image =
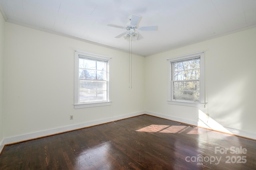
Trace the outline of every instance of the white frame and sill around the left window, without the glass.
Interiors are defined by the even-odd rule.
[[[80,56],[96,58],[99,60],[106,60],[108,61],[107,66],[107,100],[102,102],[79,102],[80,94],[79,94],[79,87],[80,87],[80,80],[79,80],[79,58]],[[74,108],[86,108],[86,107],[98,107],[98,106],[109,106],[111,105],[111,58],[96,55],[92,53],[86,53],[82,51],[75,51],[75,80],[74,80]]]

